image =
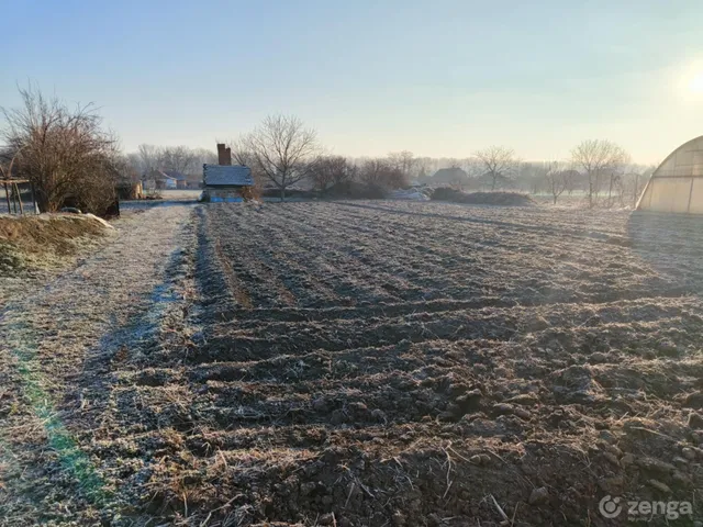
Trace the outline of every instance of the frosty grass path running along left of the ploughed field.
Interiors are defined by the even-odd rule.
[[[109,382],[98,374],[101,365],[136,352],[174,303],[166,277],[192,242],[193,209],[171,203],[118,222],[118,236],[99,253],[3,306],[1,525],[98,519],[85,515],[102,508],[90,504],[99,505],[110,489],[78,436],[109,404],[100,393]]]

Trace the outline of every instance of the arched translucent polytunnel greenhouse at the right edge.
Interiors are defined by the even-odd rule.
[[[637,210],[703,214],[703,136],[681,145],[659,165]]]

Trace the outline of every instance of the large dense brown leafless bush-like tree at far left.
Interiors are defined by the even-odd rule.
[[[115,197],[118,148],[96,109],[70,110],[31,86],[20,96],[21,108],[2,109],[3,136],[19,175],[34,184],[40,210],[53,212],[72,199],[102,213]]]

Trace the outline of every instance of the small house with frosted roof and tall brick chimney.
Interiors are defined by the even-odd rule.
[[[230,148],[217,145],[220,165],[202,166],[203,201],[242,201],[242,190],[254,187],[252,169],[245,165],[232,165]]]

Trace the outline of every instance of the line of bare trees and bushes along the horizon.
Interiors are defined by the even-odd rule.
[[[216,164],[214,150],[143,144],[122,153],[93,105],[69,108],[30,86],[20,89],[22,105],[2,109],[0,167],[32,181],[40,209],[56,211],[67,199],[88,210],[114,200],[121,181],[137,181],[153,170],[176,170],[198,178],[203,164]],[[289,115],[266,117],[228,142],[234,162],[252,168],[257,183],[277,190],[305,184],[320,193],[379,198],[411,184],[459,190],[520,190],[582,194],[589,206],[633,204],[654,167],[632,162],[621,146],[584,141],[561,160],[523,161],[505,146],[490,146],[465,158],[431,158],[411,152],[378,158],[350,158],[325,150],[313,128]],[[4,171],[8,169],[5,168]]]

